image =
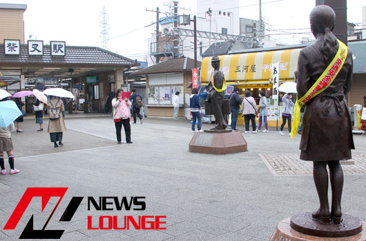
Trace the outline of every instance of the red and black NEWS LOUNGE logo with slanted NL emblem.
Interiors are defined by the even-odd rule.
[[[64,195],[67,191],[68,187],[28,187],[26,192],[21,197],[17,207],[13,211],[10,216],[8,222],[6,223],[3,229],[15,229],[23,213],[26,211],[30,201],[33,197],[41,197],[42,207],[41,211],[44,211],[48,201],[51,197],[59,197],[59,201],[55,208],[52,210],[52,213],[48,217],[48,220],[44,224],[44,227],[41,230],[35,230],[33,228],[33,215],[26,224],[26,227],[23,229],[19,239],[59,239],[65,230],[46,230],[48,222],[52,218],[55,213],[61,199],[64,198]],[[84,197],[73,197],[71,198],[68,206],[66,207],[64,213],[60,218],[60,222],[70,222],[73,218],[77,208],[79,207],[81,201]],[[145,210],[146,203],[144,202],[145,197],[122,197],[119,198],[117,196],[101,196],[99,199],[95,200],[93,197],[88,197],[88,211],[90,207],[94,207],[97,211],[121,211],[125,209],[129,211],[133,210]],[[115,209],[113,207],[115,206]],[[88,216],[88,229],[89,230],[99,230],[99,229],[166,229],[166,227],[162,227],[162,224],[166,224],[166,222],[162,221],[162,218],[166,218],[166,216],[138,216],[138,220],[135,220],[133,216],[124,216],[123,218],[119,218],[119,216],[99,216],[97,224],[93,224],[93,216]],[[121,220],[122,219],[122,220]],[[122,224],[123,223],[123,224]],[[132,226],[130,225],[132,224]]]

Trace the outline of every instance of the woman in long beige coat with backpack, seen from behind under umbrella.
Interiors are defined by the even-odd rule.
[[[51,96],[47,103],[48,113],[50,113],[50,121],[48,122],[47,132],[50,133],[51,143],[55,143],[55,147],[64,145],[62,143],[62,133],[66,132],[66,125],[64,121],[64,103],[61,98]],[[57,145],[57,141],[59,144]]]

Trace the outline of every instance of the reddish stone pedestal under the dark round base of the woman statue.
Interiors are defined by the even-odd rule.
[[[356,235],[343,238],[322,238],[314,235],[307,235],[295,231],[290,226],[291,218],[286,218],[278,223],[276,232],[273,233],[271,241],[365,241],[366,240],[366,222],[362,222],[363,231]]]

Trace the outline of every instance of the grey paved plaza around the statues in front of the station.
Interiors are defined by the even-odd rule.
[[[269,240],[280,220],[318,209],[311,163],[298,160],[300,136],[276,128],[243,134],[247,152],[210,155],[188,151],[189,121],[146,118],[131,125],[133,144],[122,145],[105,116],[67,118],[66,127],[58,148],[46,131],[36,132],[34,119],[22,123],[23,133],[12,132],[21,173],[0,176],[1,240],[17,240],[32,215],[42,229],[59,200],[41,211],[41,198],[33,198],[17,228],[3,230],[27,187],[68,187],[46,228],[65,230],[61,240]],[[366,220],[366,136],[354,140],[354,158],[343,165],[343,212]],[[73,196],[84,200],[70,222],[60,222]],[[88,196],[144,196],[146,209],[88,211]],[[87,216],[106,215],[166,216],[166,230],[87,229]]]

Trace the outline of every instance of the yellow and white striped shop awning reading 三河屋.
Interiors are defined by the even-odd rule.
[[[298,67],[300,48],[247,54],[229,54],[220,57],[220,66],[226,81],[269,80],[273,63],[280,63],[280,79],[293,78]],[[213,67],[211,58],[206,57],[201,65],[201,81],[210,81]]]

